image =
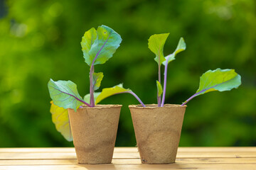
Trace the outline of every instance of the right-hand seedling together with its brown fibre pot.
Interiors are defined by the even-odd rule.
[[[142,164],[175,162],[183,116],[186,111],[185,105],[188,101],[209,91],[229,91],[238,88],[241,84],[241,77],[234,69],[209,70],[201,76],[196,94],[188,98],[181,106],[164,105],[168,64],[175,60],[179,52],[186,50],[186,43],[183,38],[180,38],[176,50],[164,57],[164,44],[168,36],[169,33],[164,33],[152,35],[149,38],[149,49],[156,55],[154,60],[158,64],[159,79],[156,80],[158,107],[156,105],[148,105],[148,108],[129,106]],[[164,88],[161,86],[162,64],[164,64]]]

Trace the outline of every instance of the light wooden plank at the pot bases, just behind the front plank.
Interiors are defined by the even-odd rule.
[[[177,164],[256,164],[255,158],[176,159]],[[0,160],[0,166],[73,165],[77,159]],[[112,164],[141,164],[140,159],[113,159]]]

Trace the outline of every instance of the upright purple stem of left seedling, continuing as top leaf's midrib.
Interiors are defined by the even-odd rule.
[[[112,33],[112,31],[110,32],[110,35],[111,35],[111,33]],[[107,37],[107,40],[110,38],[110,35]],[[100,51],[106,45],[107,40],[104,42],[104,44],[102,45],[100,50],[97,52],[97,55],[95,55],[95,58],[93,59],[92,65],[90,67],[90,104],[92,105],[92,107],[95,107],[95,99],[94,99],[94,96],[93,96],[94,90],[93,90],[93,85],[92,85],[92,74],[94,72],[94,63],[95,63],[95,60],[97,59],[98,55],[100,55]]]

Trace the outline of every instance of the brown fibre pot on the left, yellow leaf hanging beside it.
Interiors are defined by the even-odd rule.
[[[75,152],[80,164],[109,164],[122,105],[82,106],[68,109]]]

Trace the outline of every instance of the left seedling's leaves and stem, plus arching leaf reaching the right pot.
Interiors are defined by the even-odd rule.
[[[102,92],[95,92],[100,88],[103,78],[102,72],[95,72],[95,65],[107,62],[121,42],[121,36],[107,26],[99,26],[97,30],[91,28],[85,32],[85,35],[82,37],[81,46],[85,62],[90,67],[90,94],[85,95],[84,98],[78,94],[77,86],[72,81],[53,81],[50,79],[48,82],[50,98],[53,100],[50,102],[50,113],[52,113],[53,123],[55,123],[56,129],[66,140],[73,140],[68,118],[68,108],[76,111],[83,104],[93,108],[95,104],[104,98],[122,93],[132,94],[144,106],[139,97],[130,89],[124,89],[122,84],[103,89]]]

